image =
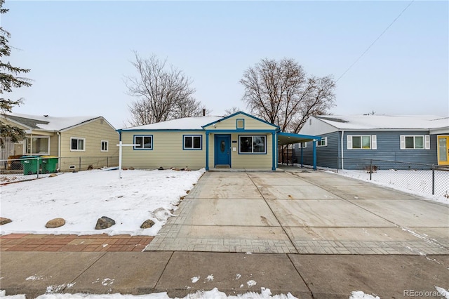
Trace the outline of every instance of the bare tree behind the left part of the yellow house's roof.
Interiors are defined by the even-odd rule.
[[[193,98],[195,90],[189,77],[155,55],[141,58],[134,54],[131,63],[138,76],[126,77],[125,81],[128,94],[136,98],[128,105],[132,126],[203,114],[203,105]]]

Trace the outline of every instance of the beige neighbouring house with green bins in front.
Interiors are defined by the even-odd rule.
[[[116,145],[119,134],[103,117],[49,117],[16,113],[1,114],[0,117],[2,122],[26,132],[25,140],[17,143],[1,137],[1,160],[23,155],[59,157],[58,168],[62,171],[79,170],[83,168],[81,163],[107,166],[108,159],[113,157],[118,162],[119,148]],[[95,162],[100,160],[104,165]]]

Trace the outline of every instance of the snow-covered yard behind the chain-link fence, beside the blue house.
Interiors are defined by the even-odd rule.
[[[449,171],[435,171],[434,195],[432,195],[431,171],[381,170],[372,173],[371,180],[370,173],[367,173],[367,171],[347,171],[340,169],[338,170],[338,174],[416,194],[424,199],[449,204]]]

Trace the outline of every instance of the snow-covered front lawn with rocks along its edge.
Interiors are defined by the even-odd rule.
[[[130,234],[154,236],[180,197],[194,187],[200,171],[81,171],[58,173],[1,186],[0,216],[13,222],[0,226],[0,234]],[[98,218],[116,224],[95,230]],[[46,222],[64,218],[62,227],[47,229]],[[147,219],[155,225],[141,229]]]

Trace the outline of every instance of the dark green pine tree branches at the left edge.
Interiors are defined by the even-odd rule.
[[[0,15],[7,13],[9,10],[3,8],[5,0],[0,0]],[[22,86],[31,86],[31,80],[25,77],[20,77],[20,74],[26,74],[29,69],[22,69],[21,67],[13,67],[10,62],[5,62],[5,58],[11,55],[11,46],[8,45],[11,34],[3,27],[0,27],[0,113],[5,114],[12,112],[16,105],[22,103],[22,98],[18,100],[10,100],[5,97],[5,93],[11,93],[13,88],[20,88]],[[9,124],[5,124],[0,119],[1,137],[10,137],[11,141],[17,142],[19,139],[25,137],[25,132]],[[3,139],[3,138],[2,138]]]

